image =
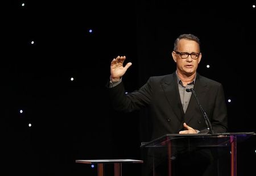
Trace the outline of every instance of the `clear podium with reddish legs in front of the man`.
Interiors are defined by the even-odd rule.
[[[214,133],[214,134],[166,134],[147,143],[142,143],[141,148],[166,148],[168,156],[168,176],[172,175],[172,150],[179,148],[200,147],[229,147],[230,148],[230,175],[237,175],[237,143],[255,136],[255,132]]]

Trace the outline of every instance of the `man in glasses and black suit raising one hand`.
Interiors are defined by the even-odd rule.
[[[186,91],[193,88],[208,115],[213,131],[226,132],[227,111],[221,83],[200,76],[196,72],[202,58],[199,38],[192,34],[177,37],[172,58],[176,62],[174,73],[150,77],[145,85],[129,94],[125,94],[122,76],[131,66],[131,62],[123,66],[125,56],[114,58],[110,65],[109,83],[113,107],[125,112],[147,107],[152,116],[152,139],[168,133],[199,133],[204,131],[207,125],[195,97],[191,97],[191,92]],[[149,151],[150,154],[152,151]],[[211,156],[207,158],[212,160]],[[159,166],[162,163],[161,159],[155,162]],[[202,171],[200,174],[207,173]]]

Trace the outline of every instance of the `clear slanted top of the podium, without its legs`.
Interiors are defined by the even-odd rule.
[[[184,146],[230,146],[256,135],[255,132],[214,133],[214,134],[166,134],[150,142],[142,143],[141,148],[184,147]]]

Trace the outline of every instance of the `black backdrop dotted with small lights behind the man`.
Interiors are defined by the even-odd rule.
[[[110,106],[105,89],[110,62],[118,55],[133,62],[123,81],[127,91],[138,89],[150,76],[175,71],[171,52],[181,33],[201,39],[198,71],[223,84],[229,131],[256,131],[252,5],[254,1],[2,2],[1,172],[96,175],[96,167],[75,160],[143,159],[140,145],[149,140],[150,122],[143,111],[123,114]],[[238,144],[238,175],[253,173],[255,150],[255,137]],[[123,175],[141,175],[141,167],[123,165]]]

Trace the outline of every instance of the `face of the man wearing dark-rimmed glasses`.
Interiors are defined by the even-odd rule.
[[[181,58],[184,56],[186,57],[186,55],[181,56],[184,53],[194,53],[193,58],[191,55],[189,55],[187,58]],[[179,43],[177,43],[176,52],[172,52],[172,58],[174,58],[174,61],[177,64],[177,72],[185,74],[186,76],[191,76],[194,74],[202,56],[201,53],[199,53],[200,48],[196,41],[181,39]],[[197,54],[199,54],[199,56],[195,58]]]

